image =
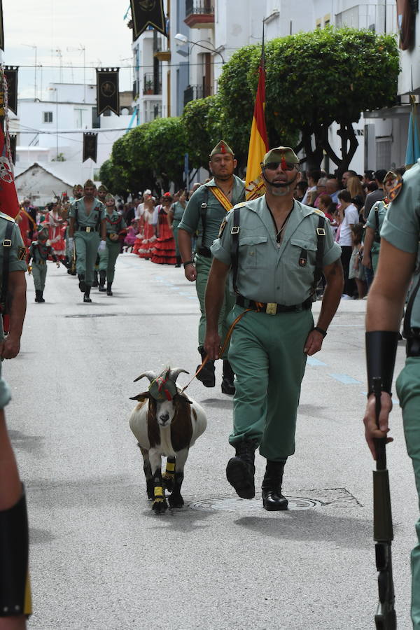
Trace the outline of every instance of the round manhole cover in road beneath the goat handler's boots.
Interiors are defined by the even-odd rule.
[[[303,495],[303,496],[302,496]],[[306,496],[304,496],[306,495]],[[285,493],[289,510],[309,510],[311,507],[357,507],[361,504],[345,488],[329,488],[324,490],[303,490],[296,493]],[[261,497],[251,500],[241,499],[239,496],[221,496],[190,503],[193,510],[204,512],[253,512],[261,510]]]

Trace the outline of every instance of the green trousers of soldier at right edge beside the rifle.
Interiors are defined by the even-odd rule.
[[[405,443],[412,459],[420,509],[420,357],[407,357],[396,383],[402,407]],[[416,522],[418,544],[411,554],[412,563],[412,622],[420,630],[420,519]]]

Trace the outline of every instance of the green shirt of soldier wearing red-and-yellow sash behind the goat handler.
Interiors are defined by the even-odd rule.
[[[205,230],[205,242],[201,242],[202,238],[202,220],[201,220],[201,204],[204,202],[204,189],[216,186],[214,179],[197,188],[195,193],[191,196],[186,209],[183,213],[182,221],[179,224],[179,230],[186,230],[190,234],[195,234],[198,230],[199,246],[210,248],[214,239],[218,237],[218,231],[221,227],[221,223],[226,216],[226,211],[220,202],[216,199],[213,193],[209,190],[209,196],[207,199],[206,210],[206,230]],[[232,189],[232,206],[245,200],[245,184],[234,175],[234,183]]]

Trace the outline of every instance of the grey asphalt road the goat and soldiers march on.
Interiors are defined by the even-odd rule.
[[[22,351],[3,365],[8,426],[27,488],[31,630],[365,630],[377,605],[372,460],[365,447],[365,301],[342,302],[309,360],[297,449],[286,465],[288,512],[237,498],[225,479],[232,401],[195,380],[208,415],[190,452],[182,510],[146,498],[128,426],[144,370],[198,363],[198,302],[182,269],[131,254],[114,295],[48,265],[45,304],[28,303]],[[319,309],[315,304],[314,311]],[[398,366],[404,348],[398,349]],[[398,373],[398,370],[396,370]],[[188,377],[181,374],[180,384]],[[409,551],[418,507],[401,414],[388,447],[398,628],[409,629]],[[257,457],[257,486],[263,461]]]

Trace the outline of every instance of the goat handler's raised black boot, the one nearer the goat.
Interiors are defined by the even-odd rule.
[[[226,477],[241,498],[255,496],[255,449],[256,440],[241,440],[235,444],[235,457],[230,458],[226,466]]]

